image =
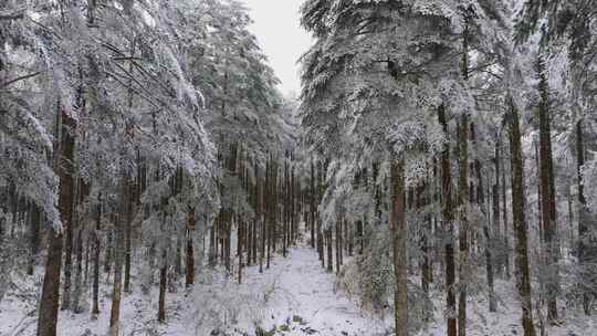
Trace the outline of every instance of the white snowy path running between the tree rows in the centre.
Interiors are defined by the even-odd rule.
[[[276,256],[264,272],[276,274],[264,321],[269,330],[276,326],[275,335],[385,335],[380,321],[364,315],[344,292],[336,291],[335,274],[322,267],[315,250],[290,249],[286,258]]]

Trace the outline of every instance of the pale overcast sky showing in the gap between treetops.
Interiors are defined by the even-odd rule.
[[[311,46],[311,38],[301,28],[298,9],[304,0],[242,0],[251,10],[251,31],[282,81],[283,94],[301,93],[296,61]]]

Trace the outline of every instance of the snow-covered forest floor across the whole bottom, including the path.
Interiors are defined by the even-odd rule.
[[[40,274],[38,272],[36,274]],[[219,272],[198,276],[193,291],[179,290],[167,294],[167,323],[156,321],[157,293],[143,295],[138,287],[125,295],[122,309],[122,335],[217,335],[253,336],[258,328],[262,335],[324,335],[380,336],[390,335],[391,318],[378,318],[363,313],[342,291],[335,287],[335,275],[326,273],[308,248],[290,250],[289,258],[275,256],[271,267],[259,274],[259,267],[245,270],[245,282],[226,279]],[[0,335],[29,336],[35,329],[35,295],[40,275],[20,282],[19,288],[0,303]],[[135,283],[135,279],[134,282]],[[520,311],[515,304],[513,285],[498,283],[499,312],[489,314],[483,295],[469,302],[470,336],[522,335]],[[86,295],[88,296],[88,295]],[[92,321],[88,312],[61,312],[59,335],[106,335],[109,321],[109,285],[102,286],[98,318]],[[441,307],[443,294],[432,297]],[[443,312],[437,308],[434,321],[420,336],[446,335]],[[537,330],[538,335],[538,330]],[[551,336],[595,336],[597,319],[568,314],[562,327],[548,329]]]

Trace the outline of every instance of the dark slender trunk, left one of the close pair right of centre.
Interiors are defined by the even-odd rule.
[[[443,128],[446,137],[448,135],[448,122],[446,119],[446,106],[440,105],[438,107],[438,119]],[[448,321],[447,321],[447,333],[448,336],[457,336],[457,308],[455,308],[455,294],[454,294],[454,282],[455,282],[455,262],[454,262],[454,242],[453,242],[453,231],[454,231],[454,209],[452,202],[452,175],[450,172],[450,145],[447,141],[443,145],[443,150],[441,153],[441,195],[443,199],[442,207],[442,220],[443,227],[446,228],[446,243],[444,243],[444,255],[446,255],[446,290],[447,290],[447,311],[448,311]]]

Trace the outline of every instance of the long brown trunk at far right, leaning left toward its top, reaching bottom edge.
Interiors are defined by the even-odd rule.
[[[531,271],[528,269],[527,228],[525,219],[524,161],[521,144],[519,111],[511,95],[507,96],[510,118],[510,159],[512,166],[512,223],[516,235],[516,283],[522,305],[524,336],[535,336],[533,303],[531,297]]]

